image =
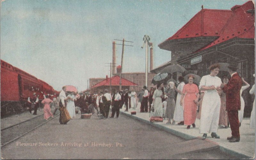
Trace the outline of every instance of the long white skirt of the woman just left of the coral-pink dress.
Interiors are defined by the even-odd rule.
[[[173,114],[173,120],[175,120],[176,122],[184,121],[184,110],[183,110],[183,106],[180,105],[180,98],[181,98],[181,95],[178,94],[176,98],[176,105],[175,105],[175,110]],[[184,104],[184,99],[183,99],[183,104]]]

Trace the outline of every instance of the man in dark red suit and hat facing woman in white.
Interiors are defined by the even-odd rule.
[[[239,142],[239,120],[238,120],[238,110],[241,109],[240,101],[240,90],[242,87],[242,79],[236,72],[237,63],[230,63],[228,66],[229,74],[231,75],[228,84],[221,84],[220,87],[226,93],[226,110],[228,111],[228,120],[231,128],[231,137],[227,139],[229,142]]]

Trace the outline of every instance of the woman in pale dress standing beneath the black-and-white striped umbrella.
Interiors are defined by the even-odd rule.
[[[163,91],[161,90],[164,87],[164,84],[157,84],[157,90],[154,92],[153,95],[153,102],[152,107],[154,107],[154,112],[150,112],[151,116],[163,116],[163,104],[162,104],[162,97],[163,97]],[[151,110],[152,110],[151,107]]]

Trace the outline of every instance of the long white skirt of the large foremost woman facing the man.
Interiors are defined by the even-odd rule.
[[[205,92],[202,101],[199,133],[217,133],[220,118],[220,97],[217,94]]]

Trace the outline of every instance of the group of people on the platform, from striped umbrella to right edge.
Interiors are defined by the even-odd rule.
[[[236,72],[237,66],[231,63],[228,67],[231,76],[224,76],[222,80],[217,76],[220,70],[218,63],[210,66],[210,74],[201,78],[199,86],[193,83],[194,76],[188,76],[188,83],[180,76],[179,85],[169,82],[167,86],[157,84],[156,90],[149,91],[152,96],[150,116],[167,118],[167,124],[185,125],[187,129],[196,127],[196,118],[200,119],[199,133],[203,139],[211,133],[212,138],[220,138],[218,128],[230,128],[232,136],[229,142],[239,142],[239,127],[244,115],[244,100],[242,92],[250,87]],[[253,75],[255,76],[255,75]],[[253,85],[250,94],[254,94]],[[175,94],[177,94],[175,99]],[[151,97],[149,96],[149,98]],[[143,101],[143,99],[142,99]],[[144,102],[145,103],[145,102]],[[143,104],[144,104],[143,103]],[[150,99],[149,99],[149,103]],[[250,128],[255,128],[254,106],[251,113]],[[141,112],[147,112],[147,110]]]

